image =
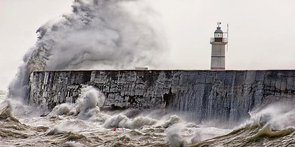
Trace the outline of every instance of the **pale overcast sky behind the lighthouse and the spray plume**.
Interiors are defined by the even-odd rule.
[[[167,69],[209,69],[216,22],[229,23],[227,69],[295,69],[293,0],[142,0],[158,11]],[[35,45],[36,30],[71,11],[72,0],[0,1],[0,90]]]

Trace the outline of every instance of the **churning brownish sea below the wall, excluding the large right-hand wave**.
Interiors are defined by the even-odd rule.
[[[99,102],[99,92],[92,88],[77,104],[61,104],[51,112],[4,102],[0,146],[187,146],[231,132],[188,123],[164,110],[100,112]],[[49,114],[40,117],[42,113]]]

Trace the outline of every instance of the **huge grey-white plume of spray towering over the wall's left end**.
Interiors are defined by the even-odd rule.
[[[9,97],[27,97],[33,71],[160,68],[165,50],[157,13],[137,0],[75,0],[72,13],[41,26]]]

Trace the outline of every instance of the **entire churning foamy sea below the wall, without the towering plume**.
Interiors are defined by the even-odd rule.
[[[4,100],[1,92],[0,146],[60,147],[292,147],[295,111],[269,106],[252,112],[237,128],[218,129],[186,122],[165,110],[103,112],[101,95],[85,88],[76,104],[57,105],[52,111]],[[48,114],[40,117],[41,114]],[[116,128],[116,131],[113,131]],[[222,128],[222,124],[220,124]]]

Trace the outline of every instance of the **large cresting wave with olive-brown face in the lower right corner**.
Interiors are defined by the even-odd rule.
[[[288,108],[288,109],[286,109]],[[251,118],[238,129],[190,147],[269,146],[293,147],[295,111],[292,104],[273,104],[260,111],[250,112]]]

